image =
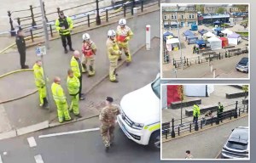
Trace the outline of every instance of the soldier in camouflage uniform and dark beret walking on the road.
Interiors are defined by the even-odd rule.
[[[102,140],[108,152],[109,147],[113,143],[113,131],[116,123],[116,117],[119,115],[119,107],[112,104],[113,98],[106,98],[106,107],[104,107],[99,115],[100,121],[102,122],[101,134]]]

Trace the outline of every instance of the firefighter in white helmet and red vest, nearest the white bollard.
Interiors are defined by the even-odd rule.
[[[119,48],[122,51],[124,49],[125,56],[126,56],[126,63],[129,65],[131,62],[131,53],[129,50],[129,41],[131,37],[133,36],[133,32],[131,31],[131,28],[126,25],[125,19],[119,20],[119,25],[117,26],[116,30],[117,35],[117,41],[119,44]],[[121,55],[119,56],[119,60],[121,60]]]

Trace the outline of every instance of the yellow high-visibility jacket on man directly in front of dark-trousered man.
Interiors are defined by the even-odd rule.
[[[70,95],[77,95],[79,93],[80,82],[76,76],[67,76],[67,91]]]

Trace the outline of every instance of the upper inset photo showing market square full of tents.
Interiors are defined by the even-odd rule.
[[[249,4],[161,4],[161,79],[249,79]]]

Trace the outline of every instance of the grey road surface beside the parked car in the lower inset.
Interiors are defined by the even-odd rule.
[[[190,150],[194,159],[216,159],[224,143],[236,126],[248,126],[248,116],[203,132],[162,143],[161,159],[184,159]],[[195,145],[196,144],[196,145]]]

